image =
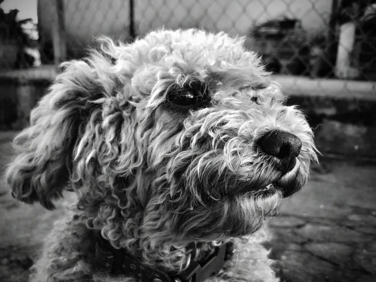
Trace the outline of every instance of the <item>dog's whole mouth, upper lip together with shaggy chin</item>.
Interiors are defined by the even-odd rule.
[[[189,198],[172,194],[174,198],[167,209],[179,216],[182,226],[179,232],[184,230],[184,238],[251,234],[261,227],[265,218],[275,215],[283,197],[304,184],[303,157],[298,157],[293,169],[284,174],[265,159],[243,164],[235,171],[226,167],[221,174],[215,169],[204,170],[204,177],[184,183],[184,190],[198,199],[190,208],[186,208],[185,200]]]

